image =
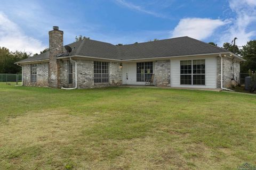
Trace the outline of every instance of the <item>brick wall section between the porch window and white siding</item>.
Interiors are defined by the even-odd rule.
[[[169,87],[171,79],[170,60],[158,60],[154,62],[154,82],[159,87]]]

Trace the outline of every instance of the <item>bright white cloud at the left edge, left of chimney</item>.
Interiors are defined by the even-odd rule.
[[[46,48],[41,41],[26,36],[17,24],[0,12],[0,46],[9,48],[11,51],[21,50],[38,53]]]

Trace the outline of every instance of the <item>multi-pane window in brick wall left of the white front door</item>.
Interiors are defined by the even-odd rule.
[[[94,62],[94,83],[109,82],[108,67],[109,67],[108,62]]]

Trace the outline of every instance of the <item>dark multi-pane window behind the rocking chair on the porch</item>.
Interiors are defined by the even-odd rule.
[[[145,82],[151,79],[153,62],[137,63],[137,81]]]

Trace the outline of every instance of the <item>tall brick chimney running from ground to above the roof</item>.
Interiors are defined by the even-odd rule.
[[[59,61],[56,60],[57,55],[63,53],[63,31],[59,27],[54,26],[49,31],[49,87],[58,88],[59,85]]]

